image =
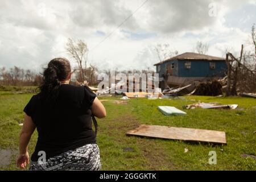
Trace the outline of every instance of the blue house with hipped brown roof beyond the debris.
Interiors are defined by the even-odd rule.
[[[154,65],[162,89],[167,85],[196,86],[197,82],[224,77],[228,69],[224,58],[193,52],[185,52]]]

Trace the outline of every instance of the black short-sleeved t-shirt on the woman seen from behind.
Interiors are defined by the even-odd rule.
[[[96,143],[92,130],[92,110],[96,94],[87,86],[63,84],[55,102],[45,102],[42,93],[32,96],[24,112],[32,118],[38,130],[38,142],[31,156],[37,161],[39,151],[46,159],[85,144]]]

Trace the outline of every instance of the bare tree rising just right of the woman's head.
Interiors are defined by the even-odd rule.
[[[86,43],[84,43],[82,40],[73,40],[68,39],[68,43],[66,45],[66,49],[69,53],[69,55],[76,60],[77,65],[79,67],[79,74],[80,74],[80,81],[84,81],[86,77],[86,64],[87,64],[87,53],[88,53],[88,47]],[[85,64],[85,70],[83,68],[83,62]]]

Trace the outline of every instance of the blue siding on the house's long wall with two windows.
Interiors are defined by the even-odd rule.
[[[191,68],[185,68],[186,60],[179,60],[179,77],[210,77],[224,76],[228,69],[225,61],[191,61]],[[210,69],[210,62],[215,63],[216,68]]]

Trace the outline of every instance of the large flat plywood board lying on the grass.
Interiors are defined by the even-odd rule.
[[[184,127],[141,125],[137,129],[128,131],[126,134],[197,142],[226,143],[226,134],[224,131],[189,129]]]

